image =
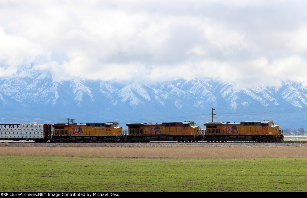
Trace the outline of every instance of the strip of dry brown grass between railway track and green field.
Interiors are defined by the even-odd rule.
[[[307,147],[0,147],[0,155],[132,158],[307,157]]]

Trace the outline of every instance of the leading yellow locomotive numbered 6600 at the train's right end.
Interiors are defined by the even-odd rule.
[[[254,122],[207,122],[205,141],[227,142],[227,141],[283,141],[284,136],[280,126],[273,120]]]

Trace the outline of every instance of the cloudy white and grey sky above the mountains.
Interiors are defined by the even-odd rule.
[[[307,86],[307,1],[0,1],[0,78]]]

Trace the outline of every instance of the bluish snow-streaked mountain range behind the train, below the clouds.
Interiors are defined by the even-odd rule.
[[[237,90],[205,79],[155,85],[100,81],[57,81],[29,68],[23,76],[0,79],[0,123],[118,121],[171,122],[275,120],[285,128],[307,128],[307,88],[297,82]]]

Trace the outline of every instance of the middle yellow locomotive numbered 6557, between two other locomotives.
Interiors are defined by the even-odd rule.
[[[126,125],[128,134],[125,134],[123,140],[129,142],[197,142],[201,139],[200,127],[193,121],[163,122],[162,124],[129,123]]]

